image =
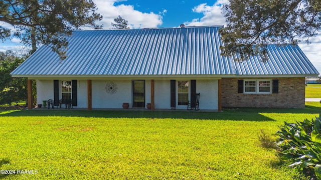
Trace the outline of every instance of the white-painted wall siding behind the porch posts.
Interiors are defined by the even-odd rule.
[[[106,92],[105,87],[108,82],[117,84],[116,93]],[[156,109],[171,108],[170,82],[170,80],[155,80]],[[37,80],[37,103],[42,104],[43,100],[54,99],[53,84],[53,80]],[[61,80],[59,80],[59,84],[61,84]],[[196,80],[196,91],[200,93],[200,109],[218,109],[218,80]],[[59,87],[60,98],[61,87]],[[132,80],[92,80],[92,108],[122,108],[123,102],[128,102],[129,108],[132,107]],[[150,80],[145,80],[145,103],[149,102]],[[87,108],[87,80],[77,80],[77,106],[75,107]],[[177,108],[186,109],[187,105],[177,105]]]

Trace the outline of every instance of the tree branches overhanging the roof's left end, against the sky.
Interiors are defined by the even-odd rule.
[[[37,46],[45,44],[66,58],[66,36],[81,26],[101,28],[95,21],[102,16],[92,0],[1,0],[0,21],[14,26],[16,31],[0,24],[0,38],[17,36],[24,43]]]

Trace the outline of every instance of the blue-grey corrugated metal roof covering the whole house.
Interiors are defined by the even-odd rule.
[[[11,74],[30,75],[231,75],[318,74],[298,46],[269,45],[267,63],[242,63],[221,55],[219,28],[77,30],[68,57],[43,45]]]

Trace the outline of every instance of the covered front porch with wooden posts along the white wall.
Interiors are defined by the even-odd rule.
[[[187,109],[186,100],[191,100],[191,94],[200,93],[201,110],[222,110],[221,78],[60,78],[58,84],[63,81],[72,81],[74,84],[72,93],[75,95],[77,104],[74,108],[80,109],[117,109],[122,108],[124,102],[129,104],[129,109],[145,109],[150,103],[150,110],[155,109]],[[33,108],[32,84],[33,79],[28,79],[28,108]],[[60,99],[62,90],[55,87],[54,79],[35,79],[37,81],[37,103],[43,100]],[[173,84],[175,81],[175,84]],[[184,93],[180,91],[179,83],[188,82],[189,85]],[[193,82],[196,83],[193,85]],[[191,86],[196,87],[191,87]],[[137,90],[138,86],[138,90]],[[141,90],[139,90],[139,88]],[[56,89],[56,90],[55,90]],[[58,92],[55,92],[57,91]],[[195,90],[193,90],[195,89]],[[56,96],[58,97],[55,97]],[[57,95],[58,94],[58,95]],[[192,95],[193,96],[193,95]],[[182,99],[182,97],[184,97]],[[193,97],[192,97],[193,98]],[[74,101],[74,100],[73,100]],[[174,101],[174,102],[173,102]],[[147,108],[146,108],[147,109]]]

